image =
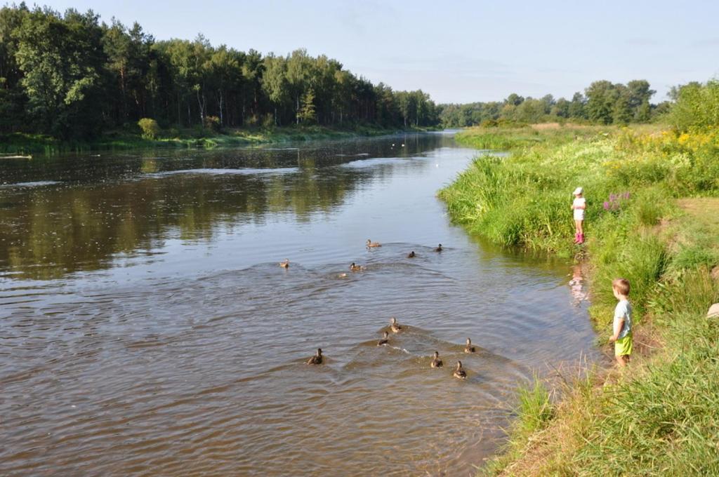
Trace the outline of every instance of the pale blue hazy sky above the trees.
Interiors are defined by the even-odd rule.
[[[32,2],[28,1],[28,4]],[[719,75],[719,1],[47,0],[139,22],[157,40],[286,55],[303,47],[395,90],[437,103],[510,93],[571,98],[592,81],[673,85]]]

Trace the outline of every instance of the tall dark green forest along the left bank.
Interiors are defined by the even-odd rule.
[[[91,138],[142,118],[160,126],[434,126],[423,91],[374,85],[324,55],[156,41],[93,11],[0,9],[0,133]]]

